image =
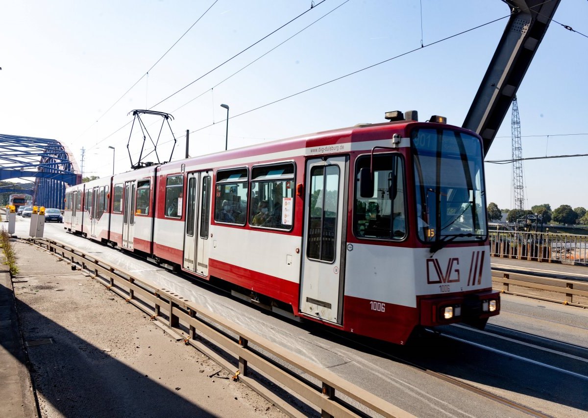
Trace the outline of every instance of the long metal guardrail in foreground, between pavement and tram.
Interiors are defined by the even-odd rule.
[[[259,373],[318,407],[322,417],[369,416],[338,397],[338,394],[345,395],[379,416],[413,416],[181,295],[158,289],[148,280],[139,279],[99,257],[86,255],[80,249],[52,239],[33,238],[31,241],[72,263],[79,263],[82,269],[91,273],[94,279],[109,290],[150,315],[169,332],[181,336],[186,344],[201,351],[229,373],[235,373],[233,379],[241,380],[289,416],[303,417],[305,414],[263,386],[258,381]],[[228,360],[226,356],[219,355],[202,339],[213,343],[232,358]],[[279,362],[293,367],[296,372]],[[251,373],[249,368],[258,373]],[[319,383],[313,383],[313,379]]]

